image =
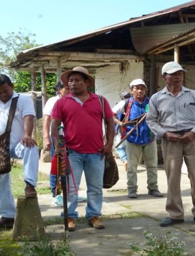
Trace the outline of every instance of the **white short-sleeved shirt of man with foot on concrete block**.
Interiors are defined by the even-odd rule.
[[[18,95],[13,91],[12,98],[17,97]],[[12,98],[4,104],[0,101],[0,135],[5,133],[9,110],[12,102]],[[32,115],[35,117],[34,105],[32,99],[27,95],[19,95],[16,109],[15,109],[15,116],[13,118],[12,126],[11,126],[11,134],[10,134],[10,149],[13,147],[14,144],[21,141],[24,137],[24,119],[23,117],[27,115]]]

